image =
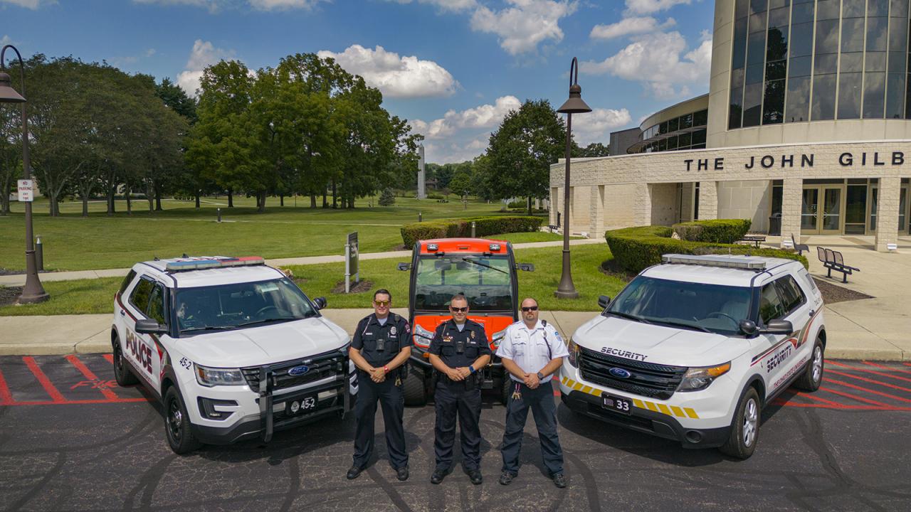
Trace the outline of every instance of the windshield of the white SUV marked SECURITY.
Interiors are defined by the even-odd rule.
[[[645,323],[730,335],[749,318],[750,288],[650,277],[632,280],[606,314]]]

